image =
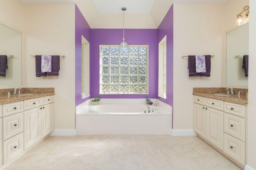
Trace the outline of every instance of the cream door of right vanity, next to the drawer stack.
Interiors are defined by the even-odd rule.
[[[223,149],[223,111],[206,107],[206,139]]]

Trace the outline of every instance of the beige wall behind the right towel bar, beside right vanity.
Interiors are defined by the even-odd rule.
[[[174,4],[173,129],[193,129],[193,87],[220,87],[224,31],[223,4]],[[188,58],[215,55],[210,77],[188,77]]]

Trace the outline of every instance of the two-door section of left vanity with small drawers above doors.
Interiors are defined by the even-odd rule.
[[[25,149],[54,130],[54,97],[24,100]]]

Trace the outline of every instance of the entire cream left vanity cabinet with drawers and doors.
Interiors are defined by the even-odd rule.
[[[16,160],[53,130],[54,96],[0,105],[0,166]]]

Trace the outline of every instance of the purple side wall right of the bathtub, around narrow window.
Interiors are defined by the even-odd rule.
[[[159,98],[162,102],[173,106],[173,5],[157,29],[157,44],[166,35],[166,99]],[[158,83],[157,83],[158,85]]]

